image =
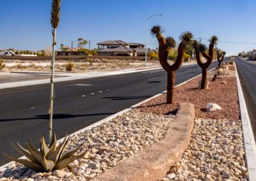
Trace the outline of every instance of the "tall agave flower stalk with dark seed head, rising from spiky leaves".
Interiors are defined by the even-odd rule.
[[[51,25],[52,25],[52,62],[51,62],[51,99],[50,99],[50,120],[49,120],[49,145],[53,141],[52,137],[52,107],[54,99],[54,59],[55,59],[55,47],[56,47],[56,29],[60,24],[60,4],[61,0],[52,0],[52,11],[51,11]]]

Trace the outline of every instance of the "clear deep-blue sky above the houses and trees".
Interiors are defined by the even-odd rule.
[[[0,0],[0,49],[42,50],[51,46],[51,0]],[[57,44],[71,45],[82,37],[92,47],[106,40],[145,44],[145,19],[148,21],[148,46],[157,47],[150,35],[152,25],[162,25],[164,36],[178,40],[183,31],[195,38],[218,36],[218,47],[228,54],[256,48],[255,0],[62,0]],[[75,44],[77,44],[75,42]],[[208,45],[208,43],[207,43]]]

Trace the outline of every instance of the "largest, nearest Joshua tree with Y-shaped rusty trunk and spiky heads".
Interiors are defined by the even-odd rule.
[[[186,46],[191,43],[193,39],[193,34],[190,32],[184,32],[180,34],[179,40],[181,40],[179,48],[178,48],[178,55],[176,61],[170,65],[168,64],[168,54],[169,51],[175,48],[176,43],[172,37],[163,36],[163,29],[160,25],[154,25],[151,28],[152,35],[156,36],[157,41],[159,43],[159,61],[161,66],[167,71],[167,96],[166,96],[166,103],[172,104],[173,103],[173,90],[174,90],[174,82],[175,82],[175,71],[179,69],[182,62],[184,61],[184,52]]]

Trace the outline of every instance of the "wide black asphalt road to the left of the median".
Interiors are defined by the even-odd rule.
[[[184,66],[176,71],[175,84],[201,71],[197,64]],[[60,139],[164,90],[163,69],[56,83],[54,133]],[[37,143],[39,134],[48,135],[49,94],[49,84],[0,90],[0,153],[20,157],[11,142],[24,144],[31,138]],[[1,155],[0,165],[5,163]]]

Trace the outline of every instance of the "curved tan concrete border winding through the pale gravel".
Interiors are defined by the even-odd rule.
[[[188,148],[194,126],[195,109],[190,103],[180,103],[162,141],[141,150],[117,166],[106,170],[93,181],[161,180],[170,167],[182,158]]]

